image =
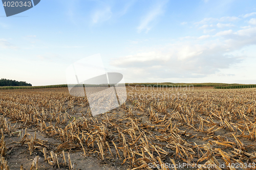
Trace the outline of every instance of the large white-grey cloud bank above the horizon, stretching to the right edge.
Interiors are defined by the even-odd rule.
[[[252,44],[256,44],[256,27],[226,30],[215,36],[179,38],[174,44],[117,58],[111,65],[124,68],[124,76],[131,80],[203,78],[245,60],[244,54],[234,52]]]

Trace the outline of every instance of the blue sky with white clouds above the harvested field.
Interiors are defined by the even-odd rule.
[[[256,84],[256,2],[42,0],[10,17],[0,7],[0,79],[66,84],[67,67],[95,54],[127,83]]]

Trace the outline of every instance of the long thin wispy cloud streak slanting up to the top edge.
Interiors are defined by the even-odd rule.
[[[146,33],[151,30],[150,23],[155,20],[159,15],[164,13],[163,7],[168,1],[161,1],[154,5],[154,9],[148,12],[141,20],[139,27],[137,28],[138,33],[142,30],[146,30]]]

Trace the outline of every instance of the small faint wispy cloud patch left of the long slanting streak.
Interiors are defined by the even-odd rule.
[[[103,22],[110,19],[111,16],[111,8],[109,6],[106,6],[103,9],[97,9],[92,15],[92,20],[93,23]]]

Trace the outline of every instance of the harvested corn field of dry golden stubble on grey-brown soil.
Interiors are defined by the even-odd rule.
[[[67,88],[0,90],[1,169],[255,169],[255,99],[127,87],[121,107],[92,117]]]

